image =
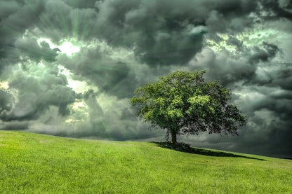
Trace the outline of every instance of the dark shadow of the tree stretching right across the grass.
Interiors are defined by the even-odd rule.
[[[253,157],[248,157],[245,155],[237,155],[234,153],[226,153],[223,151],[211,151],[204,148],[193,148],[189,144],[185,144],[183,142],[173,144],[171,143],[171,141],[162,141],[162,142],[152,141],[152,143],[157,144],[157,146],[161,148],[168,148],[175,151],[181,151],[181,152],[186,152],[186,153],[196,153],[196,154],[201,154],[201,155],[209,155],[209,156],[217,156],[217,157],[248,158],[248,159],[253,159],[253,160],[266,161],[260,158],[253,158]]]

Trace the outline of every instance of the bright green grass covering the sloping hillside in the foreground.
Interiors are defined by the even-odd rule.
[[[0,131],[0,193],[292,192],[292,160],[197,153]]]

